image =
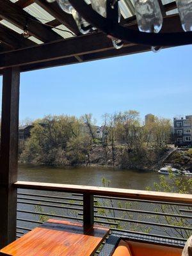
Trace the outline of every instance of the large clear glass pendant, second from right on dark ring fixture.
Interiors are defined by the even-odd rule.
[[[134,7],[140,31],[159,33],[163,25],[163,16],[158,0],[134,0]]]

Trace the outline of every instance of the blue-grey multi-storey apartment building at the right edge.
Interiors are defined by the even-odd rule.
[[[173,118],[175,145],[192,146],[192,115]]]

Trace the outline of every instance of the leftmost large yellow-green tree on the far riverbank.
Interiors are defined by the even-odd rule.
[[[67,143],[79,136],[80,125],[74,116],[45,116],[36,120],[21,159],[29,163],[65,163]]]

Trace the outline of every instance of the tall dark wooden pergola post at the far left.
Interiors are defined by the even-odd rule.
[[[16,239],[18,129],[19,129],[18,68],[3,70],[0,155],[0,248]]]

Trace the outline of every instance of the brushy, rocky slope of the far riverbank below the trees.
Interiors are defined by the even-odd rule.
[[[175,150],[175,152],[174,152]],[[74,156],[75,158],[76,156]],[[177,165],[177,168],[191,168],[192,154],[191,152],[182,152],[174,147],[154,148],[146,147],[133,152],[127,150],[124,145],[118,145],[112,150],[111,147],[103,147],[102,145],[93,145],[89,154],[84,157],[84,161],[70,161],[67,152],[63,151],[60,159],[51,163],[44,163],[38,156],[26,161],[20,157],[19,163],[25,164],[44,164],[45,166],[58,167],[106,167],[120,169],[135,169],[135,170],[159,170],[164,163],[172,163]]]

